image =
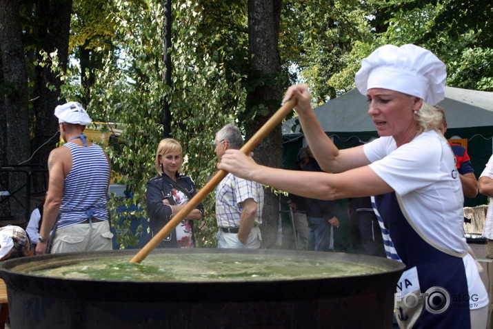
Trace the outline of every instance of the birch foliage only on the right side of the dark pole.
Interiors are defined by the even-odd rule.
[[[231,28],[223,28],[217,34],[212,32],[214,28],[204,8],[206,3],[201,6],[190,1],[174,6],[175,41],[171,54],[172,127],[176,128],[172,133],[182,141],[184,154],[188,154],[183,171],[199,188],[216,170],[217,157],[212,148],[215,133],[225,123],[234,121],[242,109],[239,104],[245,102],[241,86],[244,77],[239,69],[245,54],[232,46]],[[237,42],[240,39],[236,38]],[[215,246],[214,194],[203,203],[204,217],[195,230],[197,245]]]

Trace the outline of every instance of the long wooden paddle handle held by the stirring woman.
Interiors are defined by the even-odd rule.
[[[250,154],[255,146],[259,145],[259,143],[283,120],[283,118],[294,108],[296,105],[296,99],[293,97],[289,101],[285,102],[279,110],[277,110],[270,119],[264,123],[264,125],[250,138],[250,140],[243,145],[240,149],[241,152],[245,154]],[[154,248],[156,248],[161,241],[165,237],[167,237],[170,232],[177,227],[177,225],[188,215],[192,210],[197,207],[197,205],[207,197],[209,192],[211,192],[214,188],[216,188],[217,184],[219,184],[224,177],[228,175],[228,172],[225,170],[219,170],[210,181],[197,193],[194,195],[188,203],[185,204],[183,208],[176,215],[166,223],[166,225],[161,228],[157,235],[154,235],[152,239],[143,246],[137,255],[132,258],[130,263],[141,263],[145,257],[147,257]]]

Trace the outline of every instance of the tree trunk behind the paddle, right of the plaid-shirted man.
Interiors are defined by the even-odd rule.
[[[257,116],[246,124],[247,139],[263,126],[281,103],[283,90],[279,86],[281,59],[278,49],[281,3],[281,0],[248,0],[248,47],[253,54],[248,83],[256,87],[247,94],[246,109],[249,113],[257,113]],[[263,115],[259,114],[265,107],[268,110],[263,110]],[[280,124],[255,148],[254,158],[265,166],[281,167]],[[262,221],[263,248],[274,248],[279,223],[279,197],[268,188],[265,190]]]

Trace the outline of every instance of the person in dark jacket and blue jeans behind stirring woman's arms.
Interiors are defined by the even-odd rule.
[[[323,171],[313,157],[309,146],[307,146],[306,151],[309,159],[302,170]],[[305,206],[306,219],[310,229],[307,250],[334,251],[334,226],[339,228],[335,201],[305,198]]]

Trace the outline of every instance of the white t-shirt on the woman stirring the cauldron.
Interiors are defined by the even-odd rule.
[[[431,130],[396,148],[392,137],[365,144],[366,157],[401,199],[403,212],[422,237],[444,250],[463,254],[461,180],[454,153],[443,137]]]

